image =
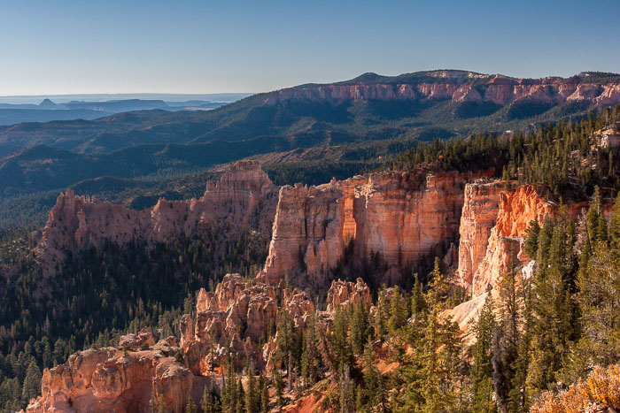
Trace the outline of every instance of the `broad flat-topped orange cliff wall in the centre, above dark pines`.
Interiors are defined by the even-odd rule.
[[[383,172],[283,187],[262,274],[272,285],[303,274],[298,285],[323,286],[349,241],[358,262],[378,252],[388,267],[415,264],[456,240],[463,188],[473,178]]]

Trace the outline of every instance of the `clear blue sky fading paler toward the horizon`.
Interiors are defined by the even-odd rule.
[[[0,96],[620,72],[620,1],[0,0]]]

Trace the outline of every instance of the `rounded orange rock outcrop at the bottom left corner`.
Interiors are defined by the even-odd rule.
[[[138,336],[152,341],[145,331]],[[42,396],[26,411],[149,412],[151,398],[160,396],[166,411],[182,411],[193,375],[174,361],[178,351],[168,338],[143,351],[91,348],[74,354],[66,364],[43,371]]]

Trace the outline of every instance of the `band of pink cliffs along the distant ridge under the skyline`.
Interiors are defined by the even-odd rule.
[[[597,105],[620,103],[620,82],[591,82],[587,74],[570,79],[515,79],[479,73],[438,71],[427,73],[419,81],[382,83],[360,81],[330,85],[285,88],[267,96],[265,103],[289,100],[342,103],[354,100],[450,99],[453,102],[490,102],[507,105],[515,102],[563,103],[588,102]]]

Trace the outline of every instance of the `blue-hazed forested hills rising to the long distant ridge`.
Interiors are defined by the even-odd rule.
[[[399,142],[523,130],[620,103],[620,75],[514,79],[463,71],[365,73],[248,96],[210,111],[196,110],[210,104],[200,99],[179,102],[74,101],[66,103],[74,109],[33,111],[120,112],[92,120],[0,126],[0,199],[101,177],[158,180],[242,157],[278,159],[267,154],[337,145],[344,146],[328,169],[345,162],[343,173],[351,173],[377,154],[402,150]],[[133,105],[141,110],[127,111]],[[194,110],[174,109],[185,107]],[[294,162],[306,162],[303,150]],[[291,180],[296,173],[291,170]]]

